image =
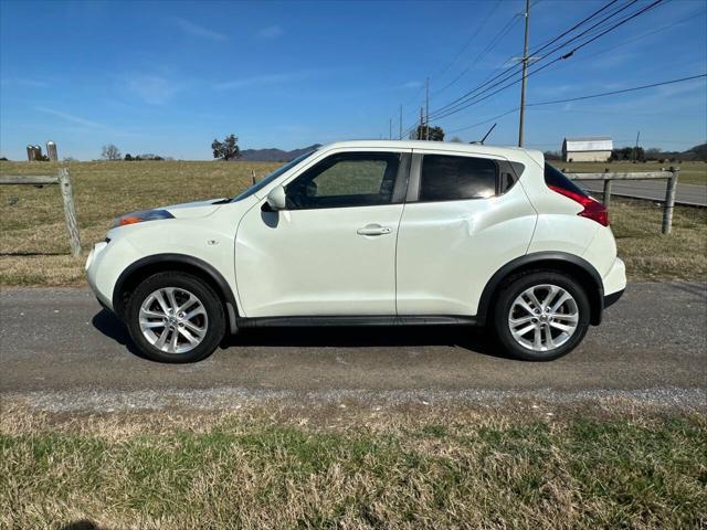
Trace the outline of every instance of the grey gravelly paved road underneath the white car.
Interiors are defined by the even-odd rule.
[[[3,289],[0,392],[46,402],[62,393],[70,405],[80,394],[105,402],[120,393],[145,405],[169,392],[190,399],[201,392],[214,402],[223,392],[479,399],[613,392],[699,402],[707,388],[706,288],[630,284],[580,348],[549,363],[506,359],[483,332],[443,327],[244,330],[189,365],[136,356],[120,322],[86,289]]]

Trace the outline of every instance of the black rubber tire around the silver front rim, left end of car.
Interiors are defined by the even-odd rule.
[[[193,349],[182,353],[170,353],[156,348],[143,335],[139,314],[143,303],[158,289],[176,287],[193,294],[202,304],[205,315],[207,331],[201,342]],[[125,324],[138,350],[148,359],[159,362],[186,363],[197,362],[210,356],[225,333],[225,315],[223,304],[213,289],[197,276],[180,272],[165,272],[149,276],[130,294],[125,312]]]

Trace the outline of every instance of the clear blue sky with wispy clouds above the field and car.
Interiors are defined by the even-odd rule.
[[[606,1],[536,1],[531,49]],[[95,159],[103,145],[115,144],[124,153],[209,159],[212,139],[230,132],[242,148],[291,149],[387,137],[389,118],[397,135],[399,106],[408,128],[426,76],[434,110],[521,54],[516,17],[474,62],[524,4],[0,0],[0,155],[23,159],[24,146],[52,139],[60,157]],[[666,0],[531,75],[528,103],[705,72],[707,2]],[[514,86],[433,125],[449,138],[478,139],[493,120],[453,130],[510,110],[518,99]],[[684,149],[705,141],[706,116],[700,78],[528,108],[526,145],[559,149],[564,136],[590,135],[630,145],[641,130],[645,147]],[[497,121],[489,142],[514,145],[517,114]]]

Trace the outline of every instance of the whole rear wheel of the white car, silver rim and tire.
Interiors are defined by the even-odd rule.
[[[494,329],[506,351],[520,359],[550,361],[572,351],[589,328],[590,305],[570,276],[532,272],[500,290]]]

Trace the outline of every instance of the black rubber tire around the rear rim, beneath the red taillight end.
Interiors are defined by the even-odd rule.
[[[579,318],[577,329],[563,344],[546,351],[536,351],[516,341],[508,318],[514,301],[521,293],[532,286],[544,284],[556,285],[567,290],[577,303]],[[566,356],[582,341],[589,329],[590,309],[587,293],[571,276],[560,272],[531,271],[509,278],[498,292],[492,315],[492,327],[502,348],[513,357],[527,361],[552,361]]]

